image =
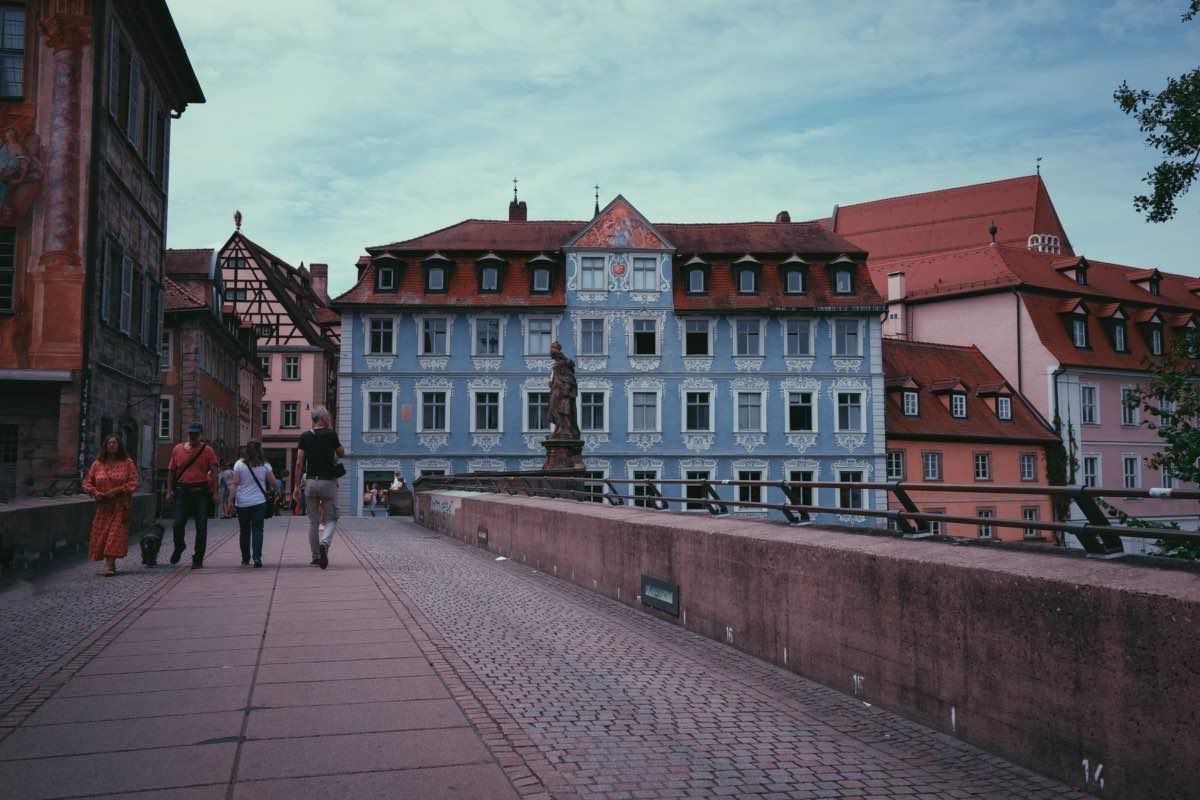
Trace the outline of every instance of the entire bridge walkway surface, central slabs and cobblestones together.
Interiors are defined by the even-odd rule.
[[[116,609],[0,703],[5,798],[1084,796],[412,523],[324,572],[269,524],[82,581]]]

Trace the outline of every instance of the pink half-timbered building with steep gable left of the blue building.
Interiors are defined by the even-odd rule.
[[[236,230],[217,255],[224,308],[252,325],[265,392],[258,416],[263,450],[276,475],[295,481],[296,443],[312,409],[336,411],[341,319],[329,307],[329,267],[292,266]]]

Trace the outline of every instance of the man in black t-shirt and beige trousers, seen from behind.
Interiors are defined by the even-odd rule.
[[[312,564],[324,570],[329,566],[329,546],[337,529],[337,479],[346,473],[337,463],[346,455],[346,449],[337,439],[325,407],[318,405],[312,410],[312,429],[300,434],[299,449],[296,475],[305,486]],[[292,499],[299,503],[299,486]],[[322,522],[325,523],[324,530],[320,530]]]

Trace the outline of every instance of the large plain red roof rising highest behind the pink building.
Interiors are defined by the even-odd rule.
[[[874,264],[988,243],[992,223],[1000,243],[1026,247],[1031,235],[1052,234],[1062,253],[1074,252],[1038,175],[842,205],[833,229]]]

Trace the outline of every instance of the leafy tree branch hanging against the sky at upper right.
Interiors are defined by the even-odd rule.
[[[1190,0],[1183,22],[1200,13],[1200,0]],[[1138,194],[1134,207],[1147,222],[1166,222],[1175,216],[1175,201],[1187,194],[1200,176],[1200,68],[1168,78],[1159,92],[1132,89],[1127,82],[1112,92],[1112,100],[1138,120],[1146,144],[1165,158],[1142,179],[1150,194]]]

